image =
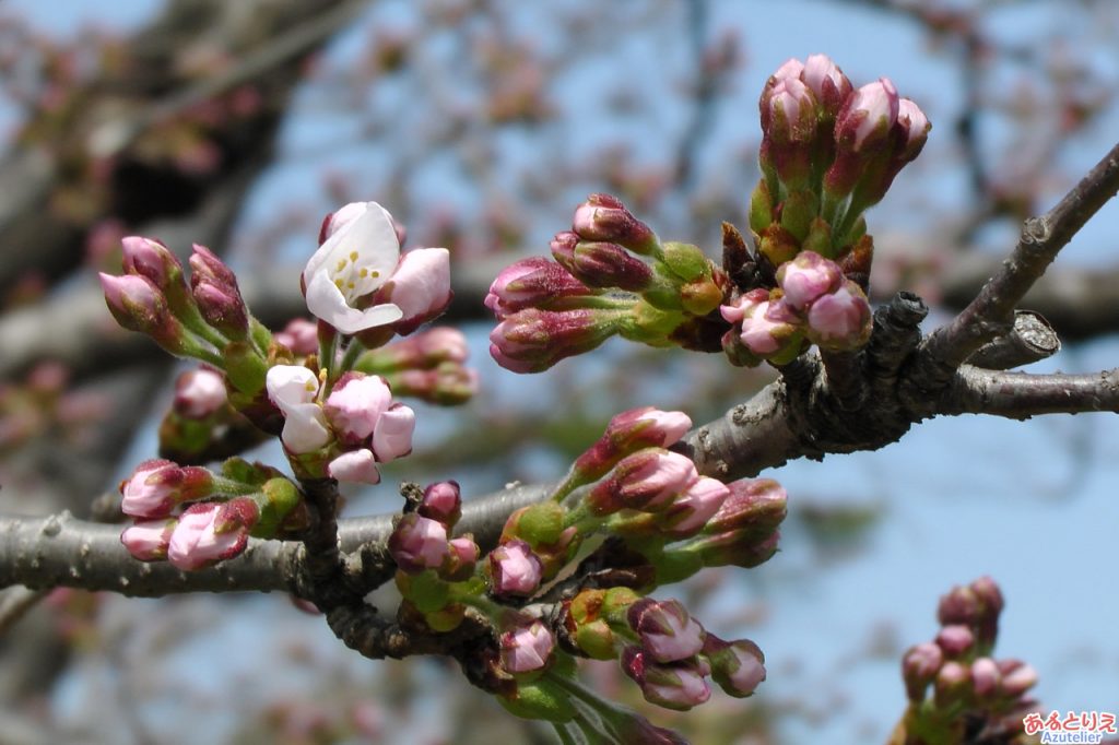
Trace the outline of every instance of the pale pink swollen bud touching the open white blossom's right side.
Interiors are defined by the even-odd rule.
[[[399,334],[442,315],[451,304],[451,254],[446,248],[413,248],[382,287],[374,302],[392,303],[401,309],[401,320],[393,323]]]

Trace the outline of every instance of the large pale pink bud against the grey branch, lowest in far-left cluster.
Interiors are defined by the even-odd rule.
[[[231,507],[233,502],[239,502]],[[256,522],[255,506],[245,509],[247,499],[226,504],[191,504],[179,517],[167,549],[168,560],[184,570],[200,569],[237,556],[248,543],[248,531]]]

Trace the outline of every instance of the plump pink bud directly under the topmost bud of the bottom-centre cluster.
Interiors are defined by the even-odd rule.
[[[689,458],[650,447],[622,459],[606,479],[595,484],[586,502],[595,515],[626,508],[652,512],[698,478]]]

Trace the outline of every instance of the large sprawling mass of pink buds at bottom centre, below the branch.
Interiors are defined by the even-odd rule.
[[[775,482],[726,484],[666,450],[690,425],[683,413],[651,407],[619,414],[551,499],[509,517],[485,556],[469,535],[450,538],[461,513],[458,487],[427,487],[389,538],[404,607],[440,633],[458,629],[468,613],[486,619],[499,653],[485,662],[483,687],[521,716],[551,717],[558,704],[546,691],[570,677],[574,657],[619,660],[649,701],[668,708],[705,701],[708,678],[731,695],[750,695],[765,675],[756,645],[725,642],[678,602],[647,597],[706,566],[761,564],[775,551],[786,515]],[[584,564],[609,566],[623,547],[618,586],[575,592],[558,616],[545,612],[556,592],[545,588],[593,536],[608,545]]]

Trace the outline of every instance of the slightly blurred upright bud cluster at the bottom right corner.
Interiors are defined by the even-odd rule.
[[[941,597],[940,632],[902,659],[910,706],[900,727],[905,742],[962,742],[982,730],[1002,742],[1023,732],[1023,716],[1037,709],[1027,692],[1037,672],[1021,660],[991,657],[1003,595],[990,577],[953,587]],[[930,696],[931,689],[931,696]]]

